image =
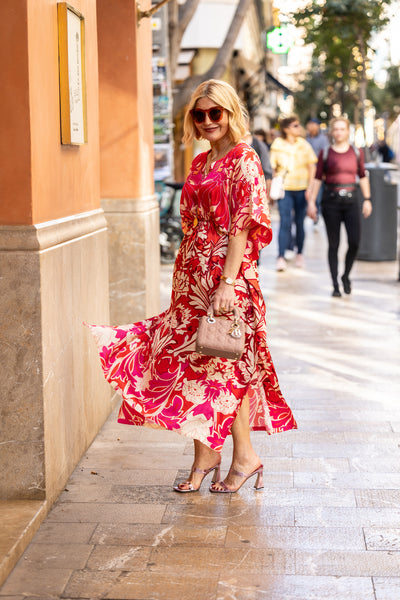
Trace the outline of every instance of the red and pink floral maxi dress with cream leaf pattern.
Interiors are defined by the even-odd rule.
[[[184,238],[175,262],[171,306],[120,327],[91,326],[107,381],[121,394],[118,421],[176,431],[220,451],[243,398],[250,428],[296,428],[267,346],[265,304],[256,259],[272,238],[265,181],[254,150],[239,143],[205,174],[198,155],[182,191]],[[195,352],[199,317],[220,283],[229,236],[249,229],[235,283],[246,323],[242,358]]]

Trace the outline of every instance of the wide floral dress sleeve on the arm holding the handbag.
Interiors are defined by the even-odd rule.
[[[239,159],[230,195],[229,237],[248,229],[246,254],[257,260],[272,239],[265,179],[257,153],[245,148]]]

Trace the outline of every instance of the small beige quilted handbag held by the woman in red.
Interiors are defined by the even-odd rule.
[[[245,324],[237,308],[228,317],[214,316],[214,310],[210,307],[208,314],[200,318],[196,352],[239,360],[244,350],[244,338]]]

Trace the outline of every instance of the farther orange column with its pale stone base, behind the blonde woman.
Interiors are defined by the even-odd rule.
[[[148,6],[147,6],[147,5]],[[146,9],[150,2],[141,3]],[[109,227],[111,323],[159,311],[150,19],[135,0],[97,0],[100,182]]]

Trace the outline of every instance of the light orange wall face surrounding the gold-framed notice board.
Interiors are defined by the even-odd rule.
[[[33,222],[99,208],[96,0],[72,0],[85,17],[88,143],[60,144],[57,1],[29,0]],[[51,48],[48,47],[51,40]]]

